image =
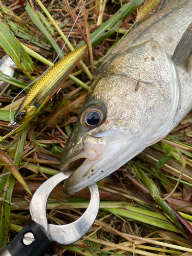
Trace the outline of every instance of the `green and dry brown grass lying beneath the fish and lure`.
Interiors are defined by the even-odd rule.
[[[86,17],[94,67],[98,66],[122,34],[145,18],[156,2],[146,1],[139,11],[142,0],[87,1],[87,13],[80,13],[59,57],[84,44]],[[11,101],[52,65],[73,26],[70,13],[76,17],[82,2],[69,2],[70,13],[58,0],[38,0],[32,6],[29,3],[2,1],[0,5],[0,57],[8,53],[19,67],[14,77],[0,73],[0,80],[10,84],[3,94],[0,92],[0,247],[27,223],[31,196],[39,185],[59,172],[61,153],[92,79],[86,56],[52,102],[41,106],[33,118],[14,130],[7,126]],[[12,105],[12,119],[29,89]],[[99,182],[100,210],[90,231],[72,245],[55,243],[47,255],[190,255],[192,243],[170,206],[189,223],[192,221],[191,137],[189,113],[165,139]],[[62,185],[58,185],[47,206],[50,223],[76,220],[87,208],[89,197],[86,189],[66,197]]]

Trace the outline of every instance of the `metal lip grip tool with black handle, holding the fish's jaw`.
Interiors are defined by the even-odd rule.
[[[91,193],[90,204],[78,220],[60,226],[47,222],[46,206],[49,195],[70,174],[71,172],[59,173],[36,190],[30,203],[32,220],[0,250],[1,256],[44,256],[53,242],[71,244],[88,232],[99,209],[99,191],[95,183],[88,187]]]

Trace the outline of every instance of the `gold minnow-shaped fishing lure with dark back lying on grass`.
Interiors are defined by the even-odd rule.
[[[42,75],[20,104],[15,113],[14,121],[24,122],[28,120],[46,99],[48,101],[62,86],[68,75],[87,51],[87,45],[79,47],[57,61]]]

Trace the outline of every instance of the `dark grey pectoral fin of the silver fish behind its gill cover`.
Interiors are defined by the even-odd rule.
[[[177,66],[186,67],[187,68],[187,59],[190,57],[192,53],[192,22],[185,30],[182,35],[179,44],[177,45],[174,55],[172,57],[173,61]],[[191,62],[190,57],[190,62]]]

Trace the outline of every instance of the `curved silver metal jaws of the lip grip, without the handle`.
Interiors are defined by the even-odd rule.
[[[92,226],[99,209],[99,191],[96,184],[89,186],[91,200],[84,214],[73,223],[67,225],[48,224],[46,207],[51,191],[63,180],[67,179],[71,172],[59,173],[44,182],[35,192],[30,203],[32,220],[44,227],[50,239],[60,244],[71,244],[79,240]]]

